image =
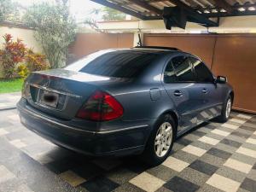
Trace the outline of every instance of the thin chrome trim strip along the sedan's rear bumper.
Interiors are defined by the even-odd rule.
[[[110,131],[87,131],[87,130],[82,130],[82,129],[79,129],[79,128],[76,128],[76,127],[73,127],[73,126],[69,126],[69,125],[64,125],[64,124],[61,124],[53,119],[49,119],[47,117],[44,117],[38,113],[32,113],[32,111],[24,108],[24,107],[20,107],[20,106],[17,106],[18,109],[20,109],[20,111],[23,111],[25,113],[29,113],[33,118],[38,118],[38,119],[44,119],[46,121],[48,121],[49,123],[52,123],[54,125],[59,125],[59,126],[63,126],[67,129],[70,129],[70,130],[73,130],[73,131],[81,131],[81,132],[87,132],[87,133],[90,133],[90,134],[100,134],[100,135],[103,135],[103,134],[108,134],[108,133],[115,133],[115,132],[119,132],[119,131],[130,131],[130,130],[134,130],[134,129],[139,129],[139,128],[143,128],[143,127],[148,127],[148,125],[137,125],[137,126],[131,126],[131,127],[125,127],[125,128],[122,128],[122,129],[118,129],[118,130],[110,130]]]

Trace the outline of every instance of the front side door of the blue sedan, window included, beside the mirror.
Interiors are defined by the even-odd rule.
[[[221,98],[218,84],[214,83],[214,76],[203,61],[189,57],[196,75],[197,86],[201,89],[202,105],[198,115],[198,123],[212,119],[221,112]]]

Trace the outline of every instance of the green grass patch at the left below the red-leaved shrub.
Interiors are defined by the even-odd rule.
[[[23,79],[0,79],[0,93],[18,92],[22,84]]]

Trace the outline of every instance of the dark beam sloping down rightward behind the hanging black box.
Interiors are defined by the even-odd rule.
[[[192,18],[191,20],[195,22],[197,20],[197,23],[204,24],[203,26],[218,26],[217,22],[214,22],[212,20],[209,20],[205,15],[199,14],[195,9],[191,8],[189,5],[181,2],[180,0],[168,0],[169,2],[176,4],[179,8],[184,9],[188,14],[189,17]],[[189,20],[189,21],[191,21]]]

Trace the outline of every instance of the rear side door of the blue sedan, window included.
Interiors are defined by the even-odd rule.
[[[201,90],[195,80],[188,55],[177,55],[167,62],[164,86],[179,114],[178,131],[185,131],[197,124]]]

